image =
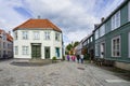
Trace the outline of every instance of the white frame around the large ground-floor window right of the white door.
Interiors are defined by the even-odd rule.
[[[118,49],[119,56],[114,55],[114,48],[113,48],[114,47],[113,41],[117,40],[117,39],[119,39],[119,49]],[[115,46],[115,48],[117,51],[117,46]],[[120,56],[121,56],[121,38],[120,38],[120,35],[117,35],[117,37],[112,39],[112,57],[120,57]]]

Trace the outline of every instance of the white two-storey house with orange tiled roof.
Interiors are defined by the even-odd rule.
[[[62,59],[62,30],[48,19],[28,19],[13,29],[14,58]]]

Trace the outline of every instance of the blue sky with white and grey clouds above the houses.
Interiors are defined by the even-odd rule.
[[[0,0],[0,29],[13,28],[29,18],[50,19],[63,31],[64,44],[91,34],[94,24],[107,17],[123,0]]]

